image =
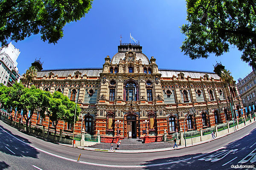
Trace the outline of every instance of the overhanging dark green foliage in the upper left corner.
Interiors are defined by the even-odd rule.
[[[0,42],[20,41],[32,34],[57,43],[63,27],[80,20],[93,0],[0,0]]]

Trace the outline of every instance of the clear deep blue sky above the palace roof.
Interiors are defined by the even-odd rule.
[[[191,60],[184,56],[180,46],[185,37],[179,27],[186,22],[185,0],[94,0],[84,18],[64,27],[64,37],[57,44],[43,42],[40,35],[12,43],[20,49],[20,74],[35,58],[41,58],[44,69],[101,68],[107,55],[116,54],[120,34],[122,42],[129,42],[130,32],[140,41],[143,53],[157,59],[158,68],[213,71],[218,61],[235,80],[252,71],[234,47],[221,57]]]

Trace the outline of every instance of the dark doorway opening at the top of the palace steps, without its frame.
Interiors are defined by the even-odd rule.
[[[129,114],[126,116],[127,120],[127,138],[137,138],[137,121],[136,115]]]

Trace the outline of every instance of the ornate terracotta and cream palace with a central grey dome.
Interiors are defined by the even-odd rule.
[[[32,65],[41,68],[39,62]],[[60,91],[80,105],[77,133],[84,127],[87,133],[99,132],[105,142],[147,134],[149,142],[156,142],[165,130],[184,130],[183,123],[185,130],[198,130],[232,119],[229,90],[219,77],[224,66],[214,68],[214,72],[159,69],[139,44],[120,44],[112,58],[105,58],[103,68],[39,69],[32,84]],[[21,81],[26,84],[24,77]],[[232,88],[237,96],[236,86]],[[241,104],[240,100],[234,103]],[[188,115],[191,108],[195,114]],[[36,115],[32,123],[48,125]],[[72,128],[65,122],[58,126]]]

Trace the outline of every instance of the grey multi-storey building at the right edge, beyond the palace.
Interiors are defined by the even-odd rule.
[[[244,111],[249,113],[254,113],[256,110],[256,74],[255,69],[253,69],[250,74],[248,74],[244,79],[239,78],[236,84],[240,98],[244,105]]]

